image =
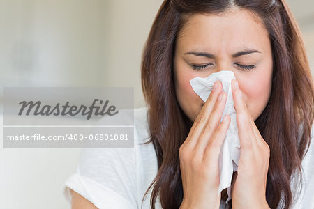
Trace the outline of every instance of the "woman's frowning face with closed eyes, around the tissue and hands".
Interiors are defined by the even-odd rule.
[[[178,36],[174,54],[179,105],[194,121],[204,102],[193,91],[190,79],[230,70],[234,72],[248,111],[255,120],[269,100],[272,66],[268,32],[251,12],[232,10],[224,15],[195,14]]]

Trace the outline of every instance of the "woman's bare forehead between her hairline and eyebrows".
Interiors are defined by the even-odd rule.
[[[269,35],[260,17],[248,10],[230,10],[221,14],[193,14],[177,38],[177,47],[232,51],[244,47],[263,47]]]

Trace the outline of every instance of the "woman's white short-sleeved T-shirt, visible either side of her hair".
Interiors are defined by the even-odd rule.
[[[128,110],[124,112],[128,114]],[[70,189],[73,189],[97,208],[140,209],[144,192],[157,174],[157,157],[153,144],[140,145],[149,140],[148,131],[147,107],[134,109],[134,148],[84,149],[75,173],[66,181],[66,199],[71,201]],[[313,132],[312,127],[312,139]],[[313,143],[312,141],[302,161],[304,187],[293,209],[314,208]],[[151,189],[142,208],[150,208],[150,197]],[[223,208],[225,203],[221,201],[220,209]],[[156,209],[161,209],[159,199],[156,201]]]

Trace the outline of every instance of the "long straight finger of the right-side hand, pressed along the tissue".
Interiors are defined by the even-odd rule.
[[[241,94],[242,93],[239,89],[237,80],[232,80],[232,95],[234,100],[234,109],[237,111],[237,125],[239,129],[241,148],[251,149],[252,146],[256,144],[256,137],[252,124],[253,119],[251,119],[251,115],[246,108],[246,104],[242,99]]]

